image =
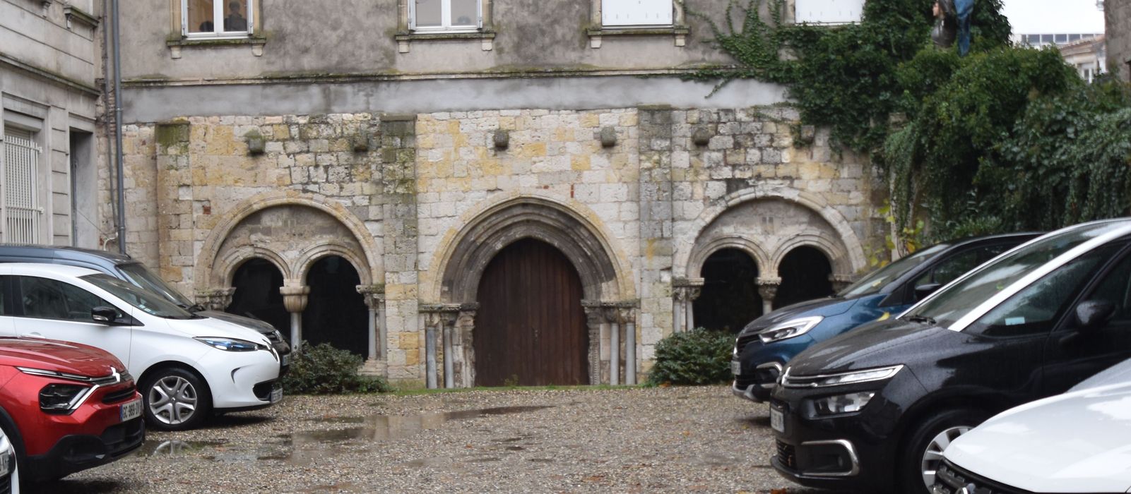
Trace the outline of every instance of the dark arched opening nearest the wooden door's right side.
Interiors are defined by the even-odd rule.
[[[696,326],[737,332],[762,314],[758,265],[739,249],[720,249],[703,261],[703,286],[694,301]]]

